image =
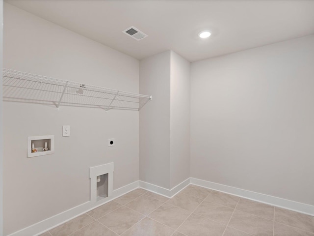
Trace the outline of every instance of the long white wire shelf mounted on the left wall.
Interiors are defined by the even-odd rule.
[[[152,96],[3,68],[3,101],[139,111]]]

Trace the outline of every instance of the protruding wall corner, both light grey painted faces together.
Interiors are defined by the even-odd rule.
[[[173,51],[140,61],[139,91],[153,100],[139,112],[139,177],[167,189],[189,177],[189,68]]]

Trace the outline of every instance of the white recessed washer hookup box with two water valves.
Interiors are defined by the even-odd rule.
[[[54,135],[27,137],[27,157],[54,153]]]

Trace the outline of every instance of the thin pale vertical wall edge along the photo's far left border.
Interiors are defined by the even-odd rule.
[[[0,55],[3,55],[3,0],[0,0]],[[0,76],[2,78],[3,57],[0,56]],[[0,98],[2,83],[0,83]],[[3,116],[2,99],[0,99],[0,236],[3,235]]]

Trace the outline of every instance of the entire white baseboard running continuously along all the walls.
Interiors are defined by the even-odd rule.
[[[227,185],[223,185],[223,184],[219,184],[219,183],[214,183],[214,182],[210,182],[210,181],[206,181],[206,180],[202,180],[202,179],[198,179],[198,178],[193,178],[193,177],[187,178],[182,183],[179,183],[177,186],[173,187],[172,189],[166,189],[166,188],[157,186],[157,185],[152,184],[152,183],[147,183],[147,182],[138,180],[138,181],[132,182],[128,185],[125,185],[121,188],[118,188],[116,190],[113,190],[111,197],[108,197],[108,198],[101,200],[97,203],[92,203],[91,201],[83,203],[77,207],[73,207],[71,209],[63,211],[59,214],[56,214],[56,215],[54,215],[48,219],[40,221],[40,222],[33,224],[31,226],[28,226],[28,227],[26,227],[22,230],[19,230],[13,234],[10,234],[8,236],[38,236],[38,235],[43,234],[46,231],[49,231],[49,230],[51,230],[51,229],[53,229],[53,228],[55,228],[61,224],[64,224],[65,222],[67,222],[67,221],[69,221],[69,220],[71,220],[71,219],[73,219],[73,218],[75,218],[81,214],[84,214],[84,213],[86,213],[86,212],[88,212],[88,211],[90,211],[96,207],[100,207],[100,206],[104,205],[105,203],[110,202],[110,201],[120,197],[121,195],[124,195],[128,192],[131,192],[132,190],[134,190],[138,187],[143,188],[143,189],[148,190],[148,191],[151,191],[151,192],[154,192],[154,193],[157,193],[157,194],[162,195],[164,197],[172,198],[189,184],[198,185],[201,187],[205,187],[205,188],[217,190],[220,192],[236,195],[236,196],[250,199],[253,201],[273,205],[276,207],[282,207],[282,208],[286,208],[289,210],[293,210],[293,211],[297,211],[297,212],[301,212],[304,214],[314,216],[314,206],[313,205],[298,203],[298,202],[294,202],[291,200],[273,197],[273,196],[265,195],[262,193],[256,193],[256,192],[252,192],[249,190],[235,188],[235,187],[231,187],[231,186],[227,186]]]

